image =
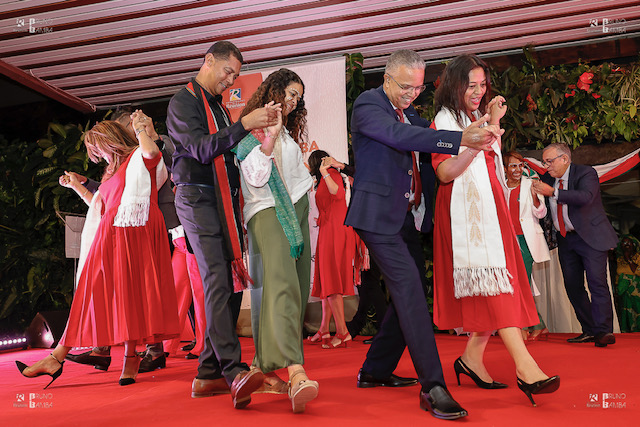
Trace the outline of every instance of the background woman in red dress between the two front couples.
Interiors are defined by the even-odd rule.
[[[309,169],[316,178],[319,227],[311,296],[322,298],[320,328],[309,341],[322,341],[323,348],[346,347],[351,335],[344,320],[342,297],[354,295],[356,233],[344,225],[347,202],[339,171],[344,170],[345,165],[326,151],[316,150],[309,155]],[[332,315],[336,324],[333,339],[329,335]]]

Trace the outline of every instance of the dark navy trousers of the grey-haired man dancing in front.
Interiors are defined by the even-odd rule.
[[[407,347],[423,390],[446,387],[418,268],[421,264],[424,273],[422,244],[413,216],[407,212],[397,234],[356,232],[369,248],[391,294],[391,304],[362,369],[376,378],[386,378]]]

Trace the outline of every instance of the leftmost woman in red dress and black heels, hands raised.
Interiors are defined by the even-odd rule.
[[[53,352],[31,366],[16,361],[25,377],[51,376],[47,387],[62,373],[72,347],[119,343],[125,345],[119,384],[133,384],[140,363],[136,343],[155,343],[180,332],[169,242],[158,208],[166,168],[149,137],[154,134],[152,120],[140,111],[131,118],[138,141],[113,121],[98,123],[85,134],[89,158],[107,162],[98,192],[89,192],[75,174],[60,177],[61,185],[73,188],[90,206],[78,285],[67,327]]]

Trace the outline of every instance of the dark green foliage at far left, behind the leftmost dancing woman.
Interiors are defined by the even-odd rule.
[[[51,123],[37,142],[0,136],[0,330],[28,325],[40,310],[69,307],[73,261],[64,254],[59,212],[86,205],[58,184],[64,171],[96,177],[78,125]]]

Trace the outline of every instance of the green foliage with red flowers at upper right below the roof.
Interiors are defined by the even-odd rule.
[[[640,138],[638,62],[541,68],[527,49],[524,55],[521,68],[491,76],[494,93],[504,96],[509,107],[502,119],[505,150]]]

